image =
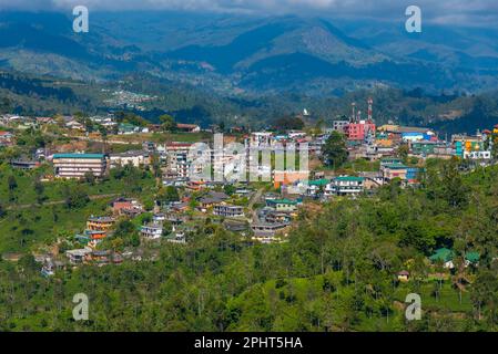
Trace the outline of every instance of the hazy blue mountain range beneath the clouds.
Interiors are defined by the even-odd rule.
[[[0,67],[85,81],[146,73],[223,95],[358,88],[480,92],[498,84],[498,33],[331,18],[99,12],[74,33],[59,12],[1,12]]]

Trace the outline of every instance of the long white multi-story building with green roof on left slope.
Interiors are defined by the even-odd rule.
[[[54,154],[53,167],[59,178],[82,178],[88,173],[103,177],[108,159],[103,154]]]

